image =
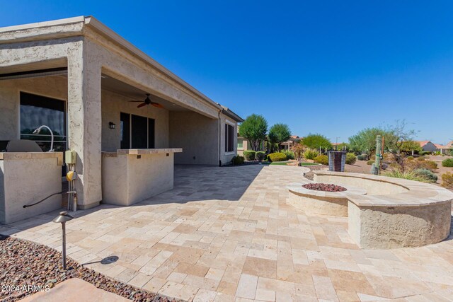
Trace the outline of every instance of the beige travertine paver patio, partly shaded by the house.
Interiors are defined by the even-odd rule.
[[[305,168],[176,167],[175,189],[133,207],[79,211],[70,257],[116,255],[93,269],[194,301],[452,301],[453,236],[423,248],[361,250],[347,219],[286,204]],[[55,213],[0,226],[59,248]]]

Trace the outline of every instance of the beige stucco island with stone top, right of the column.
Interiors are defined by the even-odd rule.
[[[119,149],[102,153],[102,202],[129,206],[173,189],[174,153],[183,149]]]

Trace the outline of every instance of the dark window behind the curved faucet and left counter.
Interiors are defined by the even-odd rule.
[[[49,151],[52,138],[49,130],[42,128],[39,134],[33,134],[33,131],[42,125],[49,127],[54,134],[54,150],[65,151],[64,101],[21,92],[21,139],[36,141],[42,151]]]

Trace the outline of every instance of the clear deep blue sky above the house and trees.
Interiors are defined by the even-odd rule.
[[[453,139],[452,1],[0,1],[0,26],[81,15],[242,117]]]

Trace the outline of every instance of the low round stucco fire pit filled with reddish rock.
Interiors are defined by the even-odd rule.
[[[306,214],[348,217],[348,196],[365,195],[360,187],[341,187],[335,184],[294,182],[287,186],[288,203]]]

